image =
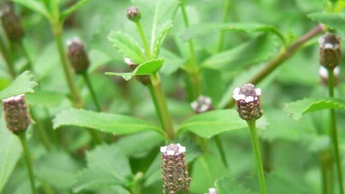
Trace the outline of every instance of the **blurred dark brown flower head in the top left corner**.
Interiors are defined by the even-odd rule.
[[[24,35],[20,18],[15,14],[10,5],[3,5],[1,10],[2,27],[10,40],[19,40]]]

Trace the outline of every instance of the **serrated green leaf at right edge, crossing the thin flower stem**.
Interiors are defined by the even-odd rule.
[[[288,116],[298,120],[304,113],[328,108],[345,109],[345,100],[333,97],[324,99],[304,98],[284,105]]]

